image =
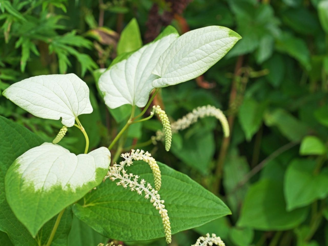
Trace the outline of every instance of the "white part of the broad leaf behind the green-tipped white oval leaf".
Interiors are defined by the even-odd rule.
[[[98,85],[106,105],[111,109],[124,104],[144,107],[154,89],[152,81],[156,76],[152,71],[160,55],[177,36],[177,33],[172,33],[147,44],[104,72]]]

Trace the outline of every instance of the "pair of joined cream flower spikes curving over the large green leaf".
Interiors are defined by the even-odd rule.
[[[130,166],[133,164],[132,159],[134,160],[144,160],[148,162],[152,167],[155,179],[155,186],[160,187],[160,171],[154,160],[148,152],[144,154],[144,151],[132,150],[131,154],[126,153],[121,155],[125,160],[121,161],[120,164],[114,164],[109,168],[107,175],[104,178],[104,181],[109,178],[112,181],[118,180],[117,185],[121,185],[124,188],[130,188],[131,191],[136,191],[139,195],[145,195],[146,199],[150,198],[150,202],[153,203],[153,206],[158,210],[164,226],[165,239],[167,243],[171,243],[171,223],[167,210],[165,209],[164,200],[161,200],[158,190],[153,189],[152,185],[146,182],[144,179],[141,179],[139,182],[139,176],[127,173],[124,169],[124,166]],[[151,165],[152,163],[152,165]],[[158,180],[159,178],[159,180]],[[157,179],[157,180],[156,180]],[[147,184],[146,184],[147,183]]]

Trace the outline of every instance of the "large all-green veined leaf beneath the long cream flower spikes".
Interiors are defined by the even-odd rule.
[[[228,207],[187,175],[158,163],[162,173],[159,194],[171,221],[172,233],[200,226],[230,214]],[[148,165],[135,163],[128,173],[138,174],[153,183]],[[160,215],[152,203],[136,192],[106,180],[75,204],[74,214],[94,230],[117,240],[150,240],[164,236]]]

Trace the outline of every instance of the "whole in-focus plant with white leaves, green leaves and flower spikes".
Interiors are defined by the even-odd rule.
[[[2,93],[6,98],[34,116],[61,120],[63,127],[52,143],[43,143],[37,135],[0,116],[0,129],[11,131],[10,136],[14,135],[17,138],[13,139],[15,144],[12,144],[7,133],[0,131],[0,134],[3,134],[0,135],[3,136],[0,149],[11,151],[9,154],[6,153],[4,161],[0,162],[0,169],[8,170],[4,178],[0,177],[0,201],[5,201],[1,202],[1,211],[8,213],[5,217],[9,218],[1,220],[1,230],[8,234],[11,241],[17,241],[17,245],[51,246],[57,244],[54,241],[62,238],[65,234],[63,232],[70,230],[73,212],[79,220],[106,237],[135,241],[163,236],[162,225],[152,220],[153,215],[133,214],[129,209],[111,207],[117,205],[118,208],[122,208],[126,206],[126,200],[123,196],[115,197],[116,205],[113,205],[111,199],[115,189],[120,188],[112,182],[102,183],[106,178],[116,180],[117,185],[129,187],[150,199],[161,216],[168,243],[171,242],[171,223],[164,200],[161,200],[158,194],[160,189],[161,192],[163,189],[168,192],[174,187],[175,192],[171,192],[170,197],[166,198],[170,199],[172,208],[177,208],[177,211],[170,214],[172,220],[176,219],[174,232],[184,231],[230,214],[228,207],[218,197],[188,176],[164,164],[157,165],[148,152],[132,150],[130,154],[122,155],[124,160],[120,164],[116,164],[114,160],[115,164],[110,167],[110,150],[120,140],[114,158],[118,157],[120,150],[125,146],[123,133],[131,124],[148,120],[154,113],[159,115],[163,124],[163,131],[158,133],[157,137],[165,139],[167,151],[171,147],[172,132],[185,129],[198,118],[205,116],[215,116],[219,119],[225,136],[228,136],[226,118],[213,106],[199,107],[174,122],[172,126],[166,113],[158,106],[153,107],[150,117],[143,115],[160,88],[200,76],[219,61],[240,38],[236,32],[220,26],[196,29],[181,36],[169,26],[154,42],[134,52],[118,55],[110,67],[102,71],[96,82],[105,104],[110,109],[129,104],[132,106],[131,116],[108,148],[99,147],[90,152],[88,134],[78,118],[81,114],[90,114],[93,111],[89,87],[82,79],[72,73],[51,74],[34,76],[10,85]],[[154,93],[150,97],[152,91]],[[137,108],[143,110],[135,116]],[[80,129],[85,137],[84,152],[81,151],[81,154],[77,155],[57,144],[68,128],[73,126]],[[125,168],[132,165],[133,160],[143,160],[149,164],[154,175],[154,189],[144,179],[139,180],[138,175],[127,173]],[[165,177],[170,180],[170,187],[161,187],[162,176],[159,166],[163,167],[162,173],[165,172]],[[94,187],[97,187],[97,190],[90,193]],[[195,208],[195,194],[200,195],[202,200],[199,204],[206,204],[204,207]],[[133,209],[144,210],[140,206],[135,204]],[[104,212],[104,209],[107,212]],[[114,216],[113,211],[119,216]],[[199,218],[194,215],[198,212]],[[143,226],[135,227],[133,223],[124,223],[127,218],[131,221],[133,216],[139,216],[140,223],[147,220],[153,224],[149,225],[150,229],[145,232]],[[157,217],[160,219],[158,215]],[[61,223],[61,220],[64,220],[62,218],[65,219],[64,223]],[[117,229],[119,226],[122,226],[121,229]],[[58,228],[60,230],[57,231]],[[17,230],[22,234],[21,237],[17,236]],[[197,242],[196,245],[204,245],[206,240],[205,238],[202,244]]]

